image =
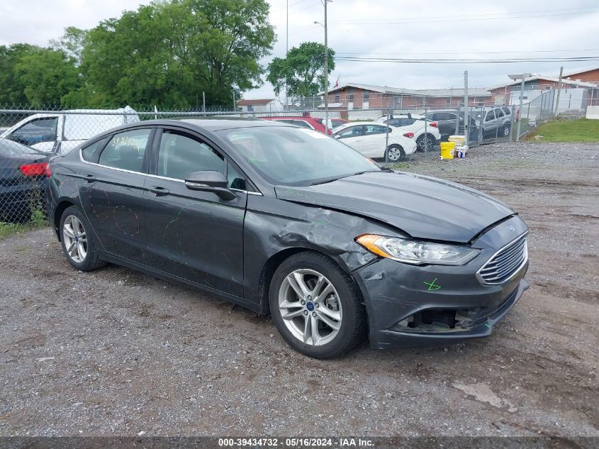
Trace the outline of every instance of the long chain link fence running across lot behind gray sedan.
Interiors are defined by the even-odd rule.
[[[486,143],[519,140],[542,121],[561,115],[581,114],[596,92],[576,89],[522,95],[489,94],[486,89],[440,89],[410,92],[409,96],[356,94],[330,95],[328,111],[323,97],[284,106],[269,101],[230,109],[162,110],[153,106],[126,106],[113,110],[61,110],[27,106],[0,106],[0,221],[39,221],[45,214],[47,161],[64,154],[96,134],[125,123],[153,118],[252,117],[292,123],[326,133],[357,152],[386,165],[410,162],[417,157],[437,157],[440,143],[452,135],[468,135],[472,148]],[[595,89],[596,90],[596,89]],[[506,96],[510,96],[507,99]],[[595,98],[594,101],[598,101]],[[464,108],[464,101],[468,107]],[[465,119],[467,117],[467,119]],[[466,124],[466,126],[465,126]]]

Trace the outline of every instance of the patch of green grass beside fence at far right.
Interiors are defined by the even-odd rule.
[[[542,142],[599,142],[599,120],[554,120],[532,131],[527,140],[534,140],[535,135],[542,135]]]

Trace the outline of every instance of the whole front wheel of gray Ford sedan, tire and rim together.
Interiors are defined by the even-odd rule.
[[[339,357],[366,334],[366,310],[353,280],[329,257],[307,251],[274,272],[272,320],[289,345],[319,359]]]

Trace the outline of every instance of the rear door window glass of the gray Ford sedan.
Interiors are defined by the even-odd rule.
[[[99,164],[131,172],[143,172],[143,160],[150,131],[150,129],[136,129],[113,135],[106,148],[102,150]]]

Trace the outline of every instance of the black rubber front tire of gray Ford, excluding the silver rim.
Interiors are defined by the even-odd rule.
[[[323,345],[310,345],[293,336],[284,323],[279,309],[279,290],[286,277],[294,270],[314,270],[326,277],[337,290],[342,319],[337,336]],[[366,310],[360,300],[359,289],[352,278],[326,255],[305,251],[292,255],[279,265],[269,287],[272,321],[289,345],[308,357],[328,359],[340,357],[364,340]],[[317,309],[318,310],[318,309]]]

